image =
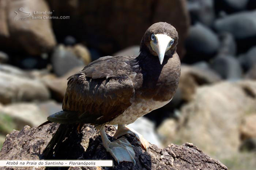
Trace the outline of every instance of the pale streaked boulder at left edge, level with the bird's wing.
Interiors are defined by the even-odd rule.
[[[48,89],[39,80],[29,78],[26,73],[14,67],[0,67],[1,103],[47,100],[49,98]]]

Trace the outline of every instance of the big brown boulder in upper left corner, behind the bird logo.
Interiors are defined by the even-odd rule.
[[[33,19],[33,17],[48,17],[50,11],[44,0],[8,1],[1,0],[4,12],[1,23],[0,35],[5,35],[0,40],[0,45],[9,51],[26,52],[31,55],[40,55],[49,52],[56,45],[50,19]],[[46,11],[45,15],[34,14],[34,11]],[[18,14],[18,15],[17,15]],[[2,16],[2,15],[1,15]],[[3,31],[2,31],[3,30]]]

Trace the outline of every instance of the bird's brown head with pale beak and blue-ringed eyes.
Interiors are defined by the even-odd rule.
[[[171,24],[159,22],[151,25],[145,32],[140,43],[140,51],[146,47],[152,55],[158,56],[162,64],[165,56],[173,54],[177,44],[176,29]]]

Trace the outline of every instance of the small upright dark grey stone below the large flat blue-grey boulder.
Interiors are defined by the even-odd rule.
[[[229,32],[223,32],[219,35],[221,46],[219,47],[218,54],[236,55],[237,45],[234,36]]]

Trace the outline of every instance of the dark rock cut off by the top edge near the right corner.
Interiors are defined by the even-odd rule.
[[[215,1],[215,9],[217,12],[225,11],[233,13],[246,9],[249,0],[217,0]]]

